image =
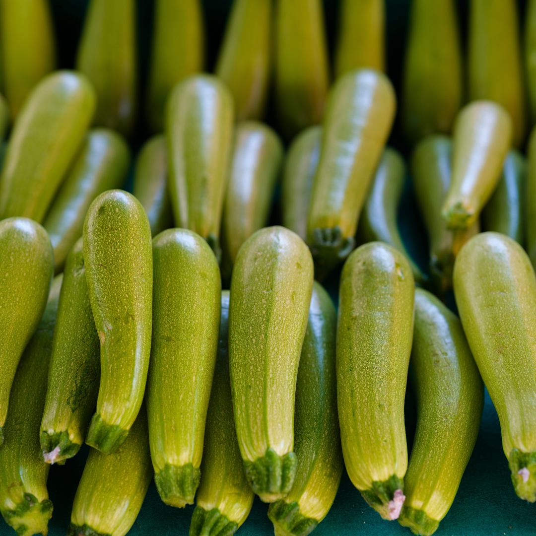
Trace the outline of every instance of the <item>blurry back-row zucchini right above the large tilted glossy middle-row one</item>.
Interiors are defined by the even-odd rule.
[[[384,1],[342,0],[335,77],[363,67],[385,71]]]

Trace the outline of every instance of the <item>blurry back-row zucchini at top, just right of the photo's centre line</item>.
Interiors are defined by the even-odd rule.
[[[275,4],[275,103],[286,139],[322,121],[329,66],[320,0]]]

